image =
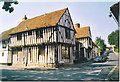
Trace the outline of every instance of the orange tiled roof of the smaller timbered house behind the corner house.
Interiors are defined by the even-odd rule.
[[[90,26],[81,27],[81,28],[75,27],[75,30],[77,32],[75,34],[76,38],[88,37],[89,29],[90,29]]]

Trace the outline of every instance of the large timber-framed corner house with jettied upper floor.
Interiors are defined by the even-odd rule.
[[[12,65],[58,67],[73,64],[75,28],[68,8],[27,19],[10,33]]]

